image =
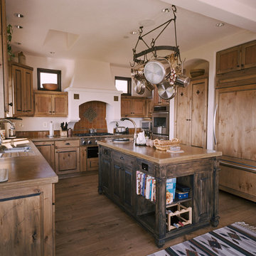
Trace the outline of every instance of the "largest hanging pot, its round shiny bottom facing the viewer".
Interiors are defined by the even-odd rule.
[[[164,80],[166,80],[170,75],[170,72],[171,65],[165,58],[149,60],[144,67],[145,78],[153,85],[164,82]]]

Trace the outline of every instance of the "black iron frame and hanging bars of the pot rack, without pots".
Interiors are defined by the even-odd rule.
[[[156,51],[157,50],[173,50],[175,55],[179,58],[179,60],[181,61],[181,55],[179,53],[179,49],[178,49],[178,46],[177,46],[177,35],[176,35],[176,6],[172,5],[171,6],[171,10],[173,11],[173,14],[174,14],[174,18],[171,18],[169,19],[168,21],[162,23],[160,26],[157,26],[156,28],[152,29],[151,31],[145,33],[143,36],[142,36],[142,33],[143,33],[143,26],[140,26],[139,27],[139,37],[138,37],[138,40],[137,40],[137,43],[135,45],[135,47],[132,49],[133,51],[133,61],[134,63],[133,64],[130,64],[132,67],[134,67],[135,63],[139,63],[139,64],[144,64],[145,63],[145,59],[147,60],[146,58],[146,54],[147,53],[152,53],[154,52],[154,57],[156,58],[157,55],[156,55]],[[166,29],[167,26],[169,26],[169,24],[171,23],[171,21],[174,21],[174,32],[175,32],[175,43],[176,43],[176,46],[155,46],[155,43],[156,43],[156,40],[159,38],[159,36],[161,36],[161,33],[164,32],[164,30]],[[156,29],[158,28],[161,28],[162,26],[164,26],[164,28],[160,31],[159,35],[156,36],[156,38],[152,38],[152,41],[151,41],[151,47],[148,46],[148,44],[146,43],[146,41],[144,41],[144,36],[147,36],[149,33],[155,31]],[[143,50],[142,52],[140,53],[136,53],[136,48],[139,44],[139,41],[142,41],[146,47],[148,48],[147,50]],[[137,58],[141,57],[142,55],[144,55],[144,60],[139,60]],[[182,63],[182,61],[181,61]]]

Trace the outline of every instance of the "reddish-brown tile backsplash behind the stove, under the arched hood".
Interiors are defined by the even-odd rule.
[[[90,128],[97,132],[107,132],[106,103],[100,101],[85,102],[79,106],[80,120],[75,123],[73,134],[88,132]]]

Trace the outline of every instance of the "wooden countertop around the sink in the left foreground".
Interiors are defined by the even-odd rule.
[[[11,140],[5,140],[8,146]],[[58,176],[29,139],[14,139],[14,144],[30,146],[31,151],[4,154],[0,158],[0,168],[9,170],[8,181],[0,182],[0,191],[11,188],[40,186],[57,183]]]

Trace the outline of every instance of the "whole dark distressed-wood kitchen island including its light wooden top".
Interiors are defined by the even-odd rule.
[[[218,225],[218,172],[221,152],[181,146],[183,153],[160,151],[132,142],[100,145],[98,192],[154,235],[156,245],[206,225]],[[156,181],[156,197],[149,200],[138,193],[138,174]],[[166,204],[166,180],[190,189],[189,196]],[[176,200],[176,199],[175,199]],[[182,210],[184,209],[184,210]],[[173,218],[181,220],[174,224]]]

